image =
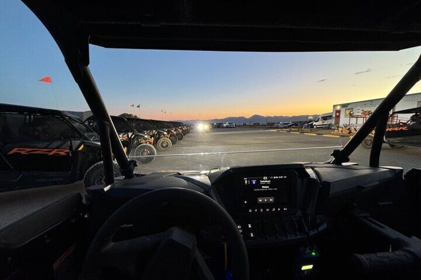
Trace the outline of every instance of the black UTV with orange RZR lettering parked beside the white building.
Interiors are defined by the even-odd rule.
[[[397,121],[388,123],[384,143],[389,144],[392,149],[405,149],[408,146],[421,147],[421,107],[394,112],[389,120],[398,120],[398,114],[412,114],[408,121]],[[365,149],[371,149],[374,135],[368,135],[361,146]]]

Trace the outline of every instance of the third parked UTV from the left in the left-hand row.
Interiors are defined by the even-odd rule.
[[[172,147],[167,132],[156,128],[150,120],[143,118],[126,118],[127,121],[137,130],[146,133],[153,139],[153,145],[158,151],[168,151]]]

